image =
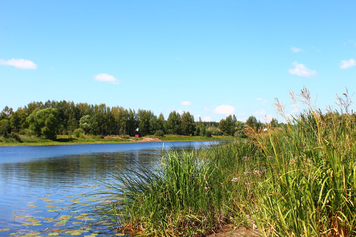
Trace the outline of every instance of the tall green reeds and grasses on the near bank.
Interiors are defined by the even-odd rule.
[[[117,170],[94,212],[141,236],[204,236],[227,224],[271,237],[356,236],[351,101],[345,94],[321,113],[304,88],[298,99],[307,109],[282,128],[247,126],[247,140],[207,147],[204,158],[172,151],[155,171]]]

